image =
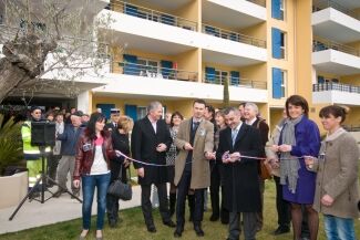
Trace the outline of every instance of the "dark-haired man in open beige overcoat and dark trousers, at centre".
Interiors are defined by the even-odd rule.
[[[205,101],[195,100],[193,117],[182,122],[175,145],[179,149],[175,159],[175,179],[177,186],[175,238],[184,231],[185,198],[188,189],[195,191],[194,230],[198,237],[204,215],[204,190],[210,185],[209,159],[214,159],[214,125],[204,119]]]

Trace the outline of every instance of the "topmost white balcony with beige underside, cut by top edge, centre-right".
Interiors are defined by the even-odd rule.
[[[206,0],[203,1],[203,22],[245,29],[265,22],[266,11],[263,0]]]

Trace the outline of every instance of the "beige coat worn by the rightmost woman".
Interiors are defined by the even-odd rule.
[[[325,159],[316,159],[310,169],[318,173],[313,208],[323,215],[358,218],[359,148],[356,139],[344,132],[332,140],[322,142],[320,154],[323,152]],[[321,205],[326,194],[335,199],[330,207]]]

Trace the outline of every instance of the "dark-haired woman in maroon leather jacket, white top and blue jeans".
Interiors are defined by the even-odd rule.
[[[79,239],[85,239],[91,223],[91,207],[94,191],[97,191],[96,240],[103,239],[104,216],[106,208],[106,191],[110,182],[110,158],[116,156],[112,139],[104,131],[105,116],[101,113],[91,114],[88,127],[78,142],[75,157],[74,187],[80,187],[82,180],[83,230]]]

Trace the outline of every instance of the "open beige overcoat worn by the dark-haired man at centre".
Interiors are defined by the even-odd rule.
[[[175,178],[174,184],[177,186],[185,168],[187,150],[184,150],[184,145],[191,139],[192,119],[184,121],[178,128],[175,145],[179,149],[175,159]],[[207,188],[210,186],[210,167],[209,161],[205,158],[205,153],[212,153],[214,149],[214,125],[203,119],[199,124],[195,138],[192,164],[192,189]]]

